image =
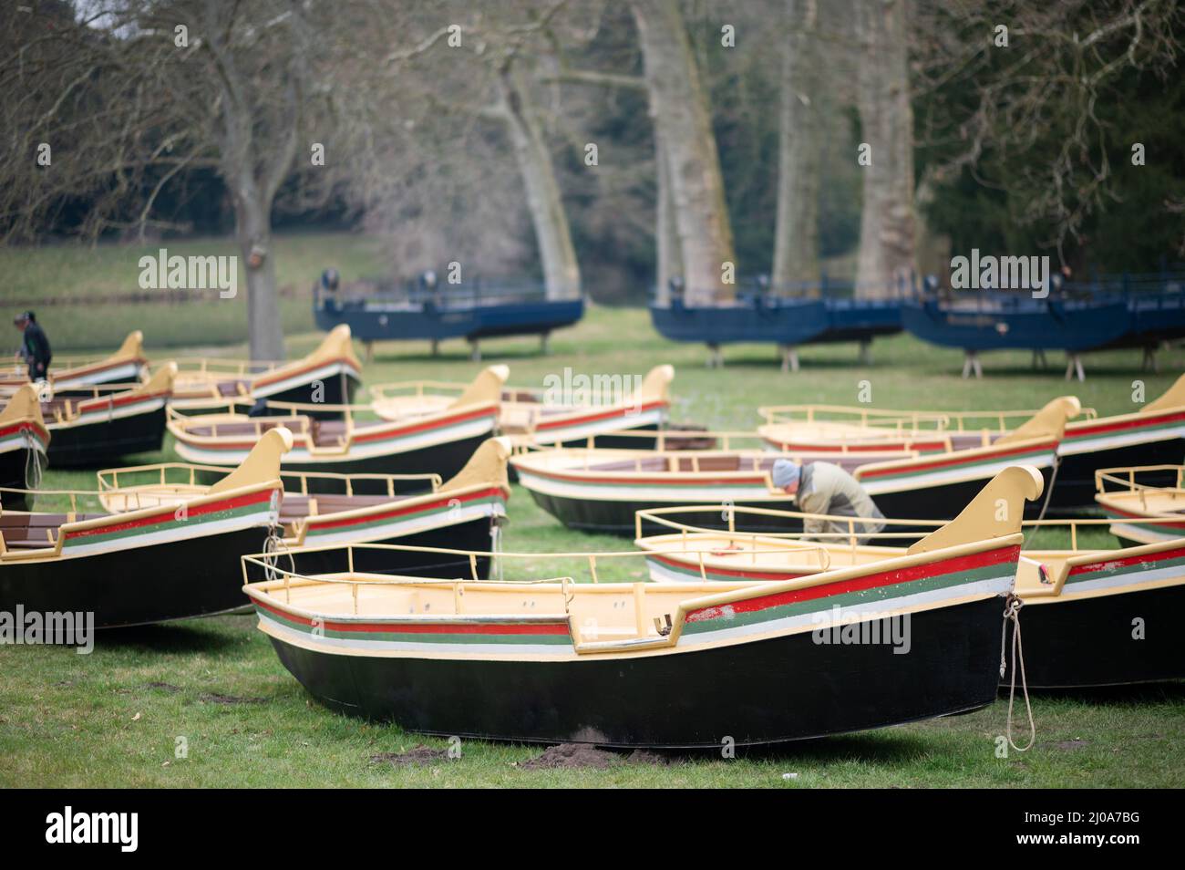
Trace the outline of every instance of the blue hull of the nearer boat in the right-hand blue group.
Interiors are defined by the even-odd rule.
[[[965,351],[1104,347],[1130,325],[1123,301],[1088,302],[1018,299],[954,308],[947,302],[902,305],[904,327],[924,341]]]

